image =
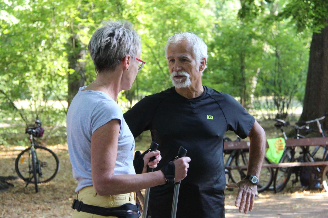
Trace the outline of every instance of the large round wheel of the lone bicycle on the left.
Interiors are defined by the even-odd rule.
[[[59,170],[59,160],[58,157],[53,151],[46,147],[34,146],[35,153],[37,157],[37,162],[39,163],[38,174],[39,174],[39,183],[48,182],[53,179]],[[15,161],[15,170],[18,176],[24,181],[30,181],[30,170],[29,170],[29,151],[31,147],[22,151],[16,161]]]

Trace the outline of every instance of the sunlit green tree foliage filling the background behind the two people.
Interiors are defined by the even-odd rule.
[[[208,45],[204,85],[238,97],[246,108],[254,108],[254,98],[263,95],[302,100],[307,29],[322,27],[326,4],[320,0],[2,1],[0,119],[20,117],[12,122],[30,124],[38,114],[47,126],[63,126],[69,75],[79,74],[72,63],[85,63],[85,85],[90,84],[96,75],[89,53],[82,58],[77,54],[87,48],[101,21],[117,19],[134,24],[142,39],[141,59],[146,61],[132,89],[119,95],[124,110],[143,96],[172,86],[163,47],[168,37],[183,31],[194,32]],[[297,33],[300,29],[303,32]]]

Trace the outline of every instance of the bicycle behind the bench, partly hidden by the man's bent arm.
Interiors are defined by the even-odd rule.
[[[225,137],[224,142],[231,142],[232,140]],[[236,142],[240,142],[241,138],[237,137]],[[247,166],[249,149],[239,150],[225,150],[224,155],[229,154],[225,166]],[[264,162],[270,164],[271,162],[264,158]],[[246,177],[247,169],[225,169],[226,182],[231,180],[233,183],[237,183]],[[274,171],[272,168],[262,168],[260,171],[260,183],[257,185],[257,192],[263,192],[267,190],[272,184]]]

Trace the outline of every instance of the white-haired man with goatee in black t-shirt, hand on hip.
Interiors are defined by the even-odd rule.
[[[174,87],[143,98],[124,118],[134,137],[151,130],[162,155],[158,169],[181,145],[188,150],[192,161],[181,182],[176,217],[225,217],[223,138],[227,130],[251,141],[247,176],[234,185],[239,188],[239,212],[251,211],[265,152],[263,128],[232,96],[202,85],[208,55],[198,36],[189,32],[171,36],[165,53]],[[151,188],[152,218],[170,217],[173,190],[174,186],[165,185]]]

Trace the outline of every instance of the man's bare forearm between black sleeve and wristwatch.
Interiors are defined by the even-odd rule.
[[[247,174],[259,178],[265,155],[265,132],[261,128],[250,137],[249,161]]]

